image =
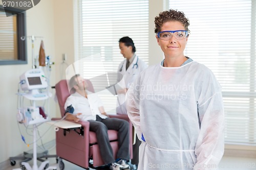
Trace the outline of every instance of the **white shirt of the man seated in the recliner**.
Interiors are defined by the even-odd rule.
[[[82,113],[77,116],[81,120],[96,120],[96,115],[99,115],[101,118],[106,118],[107,116],[99,112],[99,107],[103,106],[99,96],[96,93],[92,93],[88,90],[87,98],[75,92],[71,94],[64,105],[64,108],[67,109],[68,106],[72,105],[74,108],[74,113]]]

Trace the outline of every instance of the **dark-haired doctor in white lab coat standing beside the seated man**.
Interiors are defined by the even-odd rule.
[[[123,78],[124,83],[122,84],[121,89],[119,89],[117,92],[118,98],[116,111],[118,114],[127,114],[125,106],[126,91],[129,89],[130,85],[135,81],[135,79],[140,75],[140,72],[147,68],[147,64],[135,54],[136,47],[130,37],[120,38],[119,48],[120,53],[123,55],[125,60],[123,60],[118,66],[117,72],[120,73],[118,74],[120,75],[118,77],[118,82],[120,82],[120,80]],[[132,164],[138,165],[140,143],[140,140],[136,138],[136,143],[133,145]]]

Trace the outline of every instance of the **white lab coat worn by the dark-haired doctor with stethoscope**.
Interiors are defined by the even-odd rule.
[[[120,82],[119,85],[121,85],[122,89],[129,88],[131,84],[135,81],[135,79],[140,75],[140,72],[145,68],[147,68],[147,64],[143,60],[138,58],[137,55],[135,55],[133,62],[130,64],[127,70],[125,69],[126,61],[127,61],[126,59],[123,60],[119,64],[118,70],[117,70],[117,72],[121,73],[121,75],[123,76],[124,83],[122,83],[123,81],[120,82],[121,78],[118,77],[118,82]],[[124,93],[118,94],[116,112],[119,114],[127,114]]]

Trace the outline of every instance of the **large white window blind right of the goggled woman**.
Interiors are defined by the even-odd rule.
[[[222,86],[225,142],[256,145],[255,0],[169,0],[190,20],[185,55]]]

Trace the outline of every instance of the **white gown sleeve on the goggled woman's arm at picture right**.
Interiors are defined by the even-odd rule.
[[[207,78],[206,78],[207,77]],[[201,84],[198,114],[201,122],[194,170],[217,169],[224,153],[224,107],[221,86],[210,72]]]

